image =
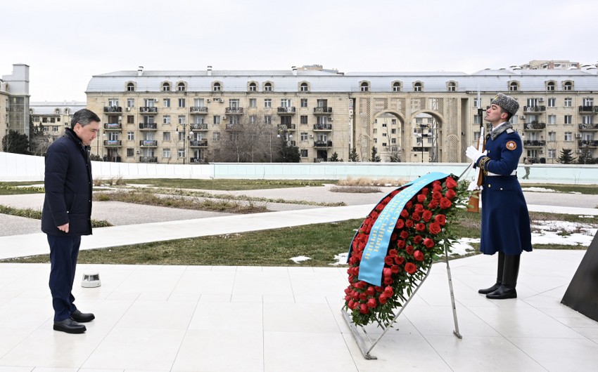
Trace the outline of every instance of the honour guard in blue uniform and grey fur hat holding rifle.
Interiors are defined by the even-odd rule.
[[[496,284],[478,292],[486,298],[516,298],[519,258],[531,251],[530,215],[516,169],[523,146],[509,119],[517,113],[519,103],[499,94],[486,110],[485,120],[492,124],[485,151],[470,146],[466,156],[483,172],[482,234],[480,251],[498,252]]]

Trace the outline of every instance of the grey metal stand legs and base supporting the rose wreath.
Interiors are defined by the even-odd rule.
[[[448,277],[449,289],[450,289],[450,301],[452,304],[452,317],[454,319],[454,331],[452,331],[452,333],[454,333],[454,336],[457,336],[457,338],[462,339],[463,336],[461,336],[461,333],[459,333],[459,323],[457,322],[457,307],[455,307],[455,305],[454,305],[454,292],[452,290],[452,277],[450,275],[450,265],[449,265],[449,259],[448,259],[448,251],[447,251],[446,247],[445,247],[445,258],[447,261],[447,277]],[[341,312],[343,313],[343,318],[345,319],[345,322],[351,329],[353,338],[355,338],[355,341],[357,341],[357,345],[360,347],[360,350],[365,359],[378,359],[374,355],[370,354],[371,350],[374,349],[376,344],[378,344],[378,341],[380,341],[381,338],[384,337],[386,332],[390,328],[393,327],[393,324],[395,324],[395,321],[397,321],[397,318],[399,317],[399,315],[402,313],[403,310],[405,310],[405,307],[409,304],[409,301],[412,300],[415,293],[417,293],[417,290],[421,287],[422,284],[424,284],[424,281],[426,281],[426,279],[428,278],[428,275],[430,274],[430,270],[432,270],[432,265],[430,265],[430,267],[428,267],[428,272],[426,272],[426,276],[424,277],[424,279],[421,279],[421,281],[416,286],[413,293],[409,296],[409,298],[407,298],[407,301],[402,305],[400,310],[398,310],[398,312],[395,313],[395,317],[393,318],[393,321],[391,321],[387,327],[378,323],[378,326],[380,326],[384,330],[382,332],[382,334],[380,336],[378,336],[378,338],[375,338],[375,339],[370,338],[369,334],[367,333],[367,331],[365,330],[365,328],[363,326],[359,326],[362,330],[362,332],[360,332],[359,329],[357,328],[357,326],[355,326],[355,324],[351,320],[349,313],[346,312],[345,310],[341,310]],[[364,340],[362,334],[363,334],[363,336],[365,336],[367,338],[367,342],[366,342],[366,340]]]

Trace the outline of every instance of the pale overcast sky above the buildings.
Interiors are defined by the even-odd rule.
[[[596,63],[596,0],[20,0],[0,6],[0,76],[30,66],[32,101],[85,100],[120,70],[476,72]]]

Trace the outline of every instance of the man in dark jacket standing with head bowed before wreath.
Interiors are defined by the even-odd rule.
[[[72,116],[65,135],[46,152],[42,231],[50,245],[50,291],[54,330],[83,333],[83,324],[95,318],[73,303],[72,284],[82,235],[91,234],[91,161],[89,145],[98,136],[100,118],[81,109]]]

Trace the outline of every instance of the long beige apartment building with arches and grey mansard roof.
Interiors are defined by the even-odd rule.
[[[342,73],[288,70],[120,71],[87,86],[87,107],[102,115],[98,154],[126,162],[214,161],[222,138],[262,122],[298,147],[302,162],[466,161],[481,117],[497,93],[521,105],[511,121],[523,157],[552,162],[561,149],[598,157],[598,75],[579,69]],[[480,102],[478,102],[478,100]],[[272,135],[264,131],[264,135]],[[270,138],[272,141],[272,138]],[[224,149],[226,150],[226,149]],[[263,158],[261,158],[263,159]]]

